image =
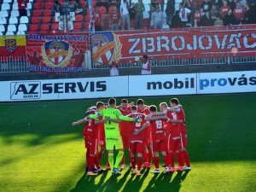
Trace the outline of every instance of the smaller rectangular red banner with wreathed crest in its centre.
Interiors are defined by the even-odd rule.
[[[29,34],[27,37],[29,69],[38,73],[82,72],[87,43],[86,34]]]

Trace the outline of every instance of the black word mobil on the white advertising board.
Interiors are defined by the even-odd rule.
[[[148,82],[147,90],[170,90],[170,89],[193,89],[195,88],[195,79],[194,78],[186,78],[185,80],[174,79],[172,81],[157,81],[157,82]]]

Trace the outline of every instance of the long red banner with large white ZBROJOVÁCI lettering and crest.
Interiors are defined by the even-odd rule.
[[[111,61],[256,55],[256,25],[100,32],[90,36],[96,65]]]

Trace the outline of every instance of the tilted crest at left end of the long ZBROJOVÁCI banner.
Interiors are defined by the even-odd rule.
[[[113,32],[98,33],[91,36],[92,53],[96,66],[119,61],[122,57],[119,36]]]

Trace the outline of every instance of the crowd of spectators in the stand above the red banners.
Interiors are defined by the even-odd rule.
[[[231,26],[256,22],[255,0],[183,0],[177,10],[175,0],[166,1],[151,1],[150,17],[147,18],[148,26],[151,28],[162,28],[164,24],[169,27],[186,27]],[[131,0],[97,0],[92,17],[96,31],[102,31],[104,26],[105,16],[102,18],[102,13],[99,12],[101,6],[106,8],[107,26],[111,31],[143,28],[143,19],[145,19],[143,0],[138,0],[137,3],[131,3]],[[71,0],[67,0],[65,8],[55,1],[55,12],[68,15],[70,11],[86,15],[86,10],[79,0],[75,0],[74,4]],[[131,20],[134,20],[132,26]]]

